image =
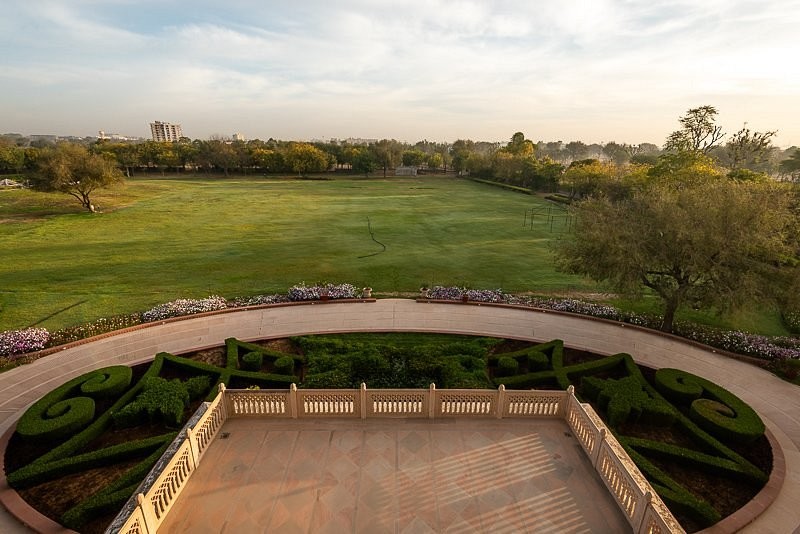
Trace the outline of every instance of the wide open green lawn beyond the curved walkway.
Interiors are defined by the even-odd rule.
[[[525,210],[545,201],[452,177],[134,178],[95,204],[103,213],[66,195],[0,191],[0,330],[302,281],[377,294],[596,290],[555,271],[558,227],[543,217],[523,227]]]

